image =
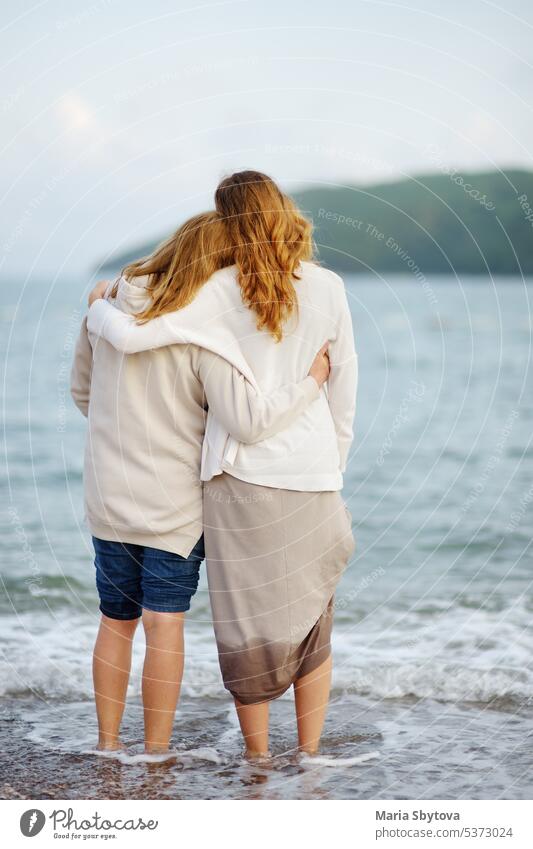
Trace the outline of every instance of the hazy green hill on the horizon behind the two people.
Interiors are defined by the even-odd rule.
[[[321,261],[348,272],[533,274],[533,172],[430,174],[304,189]],[[152,241],[112,257],[116,268]]]

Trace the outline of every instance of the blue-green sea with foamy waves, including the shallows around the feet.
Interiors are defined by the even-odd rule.
[[[140,634],[128,753],[92,752],[98,609],[85,422],[68,394],[84,282],[4,281],[0,795],[531,798],[533,287],[346,283],[361,372],[344,489],[357,550],[336,598],[332,704],[320,758],[295,753],[286,695],[272,760],[250,766],[205,575],[175,756],[139,755]]]

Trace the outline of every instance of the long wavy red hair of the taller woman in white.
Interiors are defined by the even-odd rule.
[[[257,328],[279,341],[298,309],[298,266],[313,258],[311,222],[259,171],[222,180],[215,207],[228,232],[243,302],[256,314]]]

